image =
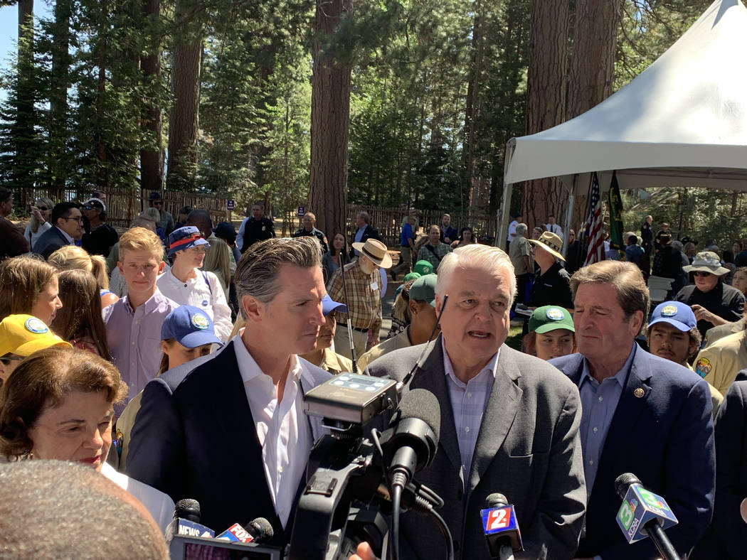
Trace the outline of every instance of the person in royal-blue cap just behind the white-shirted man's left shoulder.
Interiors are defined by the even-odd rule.
[[[157,377],[168,370],[186,364],[200,356],[208,355],[213,344],[223,346],[215,336],[213,321],[208,314],[192,305],[180,305],[164,319],[161,326],[161,367]],[[120,470],[127,464],[127,447],[130,432],[135,423],[137,411],[140,410],[142,391],[127,403],[122,415],[117,419],[117,451],[120,454]]]

